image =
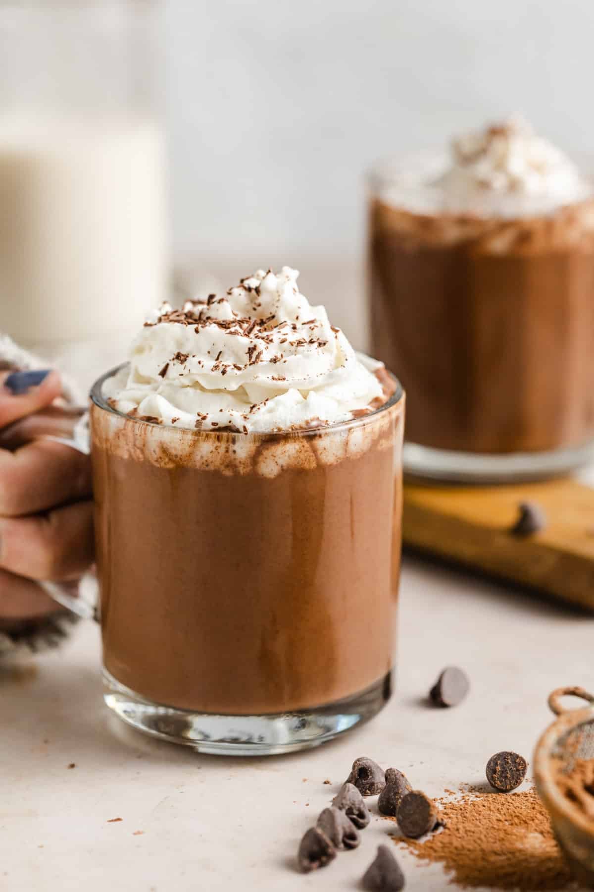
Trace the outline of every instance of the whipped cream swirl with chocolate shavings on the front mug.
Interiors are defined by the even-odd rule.
[[[224,297],[164,304],[103,396],[126,415],[243,434],[335,424],[383,402],[382,364],[358,357],[298,275],[258,269]]]

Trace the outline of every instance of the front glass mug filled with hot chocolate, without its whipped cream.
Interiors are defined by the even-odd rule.
[[[234,434],[122,415],[91,392],[104,698],[201,752],[313,747],[392,688],[404,394],[353,420]],[[82,587],[81,587],[82,588]]]

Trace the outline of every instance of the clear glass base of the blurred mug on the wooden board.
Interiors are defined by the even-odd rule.
[[[505,455],[432,449],[405,442],[405,475],[443,483],[520,483],[567,474],[594,459],[594,440],[550,452]]]

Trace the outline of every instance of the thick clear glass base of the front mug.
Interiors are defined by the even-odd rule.
[[[103,698],[120,719],[151,737],[214,756],[278,756],[319,747],[367,722],[386,705],[393,673],[366,690],[314,709],[268,715],[217,715],[162,706],[103,669]]]

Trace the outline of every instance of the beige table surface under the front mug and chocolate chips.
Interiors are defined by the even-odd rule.
[[[482,780],[497,750],[532,761],[549,690],[594,687],[594,618],[416,558],[403,566],[399,640],[398,690],[382,714],[325,747],[274,758],[199,756],[128,729],[102,704],[92,624],[60,653],[4,667],[0,889],[358,888],[394,831],[377,813],[358,850],[307,876],[294,866],[299,838],[355,756],[438,795]],[[471,694],[429,709],[421,698],[449,663],[468,670]],[[409,890],[452,888],[439,866],[402,863]]]

